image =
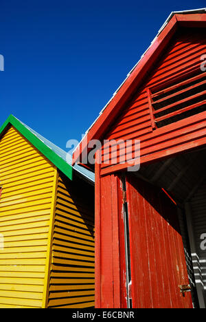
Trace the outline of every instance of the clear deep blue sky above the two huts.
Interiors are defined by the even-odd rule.
[[[1,0],[0,123],[80,140],[172,11],[205,1]]]

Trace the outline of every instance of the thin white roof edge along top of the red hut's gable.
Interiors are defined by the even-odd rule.
[[[198,12],[206,12],[206,8],[200,8],[200,9],[194,9],[194,10],[183,10],[183,11],[172,11],[168,17],[168,19],[166,19],[165,23],[163,23],[162,27],[160,28],[157,36],[155,36],[155,38],[152,40],[152,43],[150,44],[150,46],[148,47],[148,49],[146,50],[146,52],[148,52],[148,50],[150,49],[150,47],[152,46],[152,44],[155,42],[155,40],[157,39],[157,37],[159,36],[159,34],[161,34],[161,32],[165,29],[166,25],[168,25],[168,23],[170,22],[170,20],[172,19],[172,17],[174,16],[174,14],[190,14],[190,13],[198,13]],[[91,126],[89,127],[89,129],[87,129],[84,137],[82,138],[82,140],[84,140],[84,138],[87,136],[87,133],[89,133],[90,129],[93,127],[93,125],[95,124],[95,122],[100,118],[101,114],[103,113],[104,109],[106,109],[106,107],[108,106],[109,103],[111,103],[111,100],[113,100],[114,96],[117,94],[117,92],[119,92],[119,89],[122,87],[122,85],[124,85],[124,83],[126,82],[126,80],[128,79],[128,77],[130,76],[130,74],[133,72],[133,70],[137,67],[137,65],[139,64],[139,62],[141,61],[141,59],[145,56],[146,52],[144,52],[144,54],[141,55],[141,58],[139,59],[139,61],[137,61],[137,63],[135,64],[135,66],[130,70],[130,72],[127,74],[126,78],[124,79],[124,81],[122,82],[121,85],[119,85],[119,87],[117,88],[117,90],[115,91],[115,93],[113,94],[113,96],[111,97],[110,100],[108,100],[108,103],[106,103],[106,105],[103,107],[103,109],[100,111],[100,114],[98,115],[98,117],[94,120],[94,122],[91,124]],[[82,140],[79,142],[79,144],[77,145],[76,149],[73,151],[73,153],[79,149],[80,144],[82,142]]]

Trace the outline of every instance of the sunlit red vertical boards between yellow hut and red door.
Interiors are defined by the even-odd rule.
[[[100,164],[95,167],[95,308],[126,308],[121,180],[100,179]]]

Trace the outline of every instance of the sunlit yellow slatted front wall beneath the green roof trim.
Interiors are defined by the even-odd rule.
[[[41,308],[56,168],[10,127],[0,140],[0,308]]]

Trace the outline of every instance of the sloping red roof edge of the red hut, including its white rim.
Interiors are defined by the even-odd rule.
[[[168,45],[170,39],[181,25],[184,27],[187,25],[197,27],[205,26],[206,8],[176,11],[170,14],[146,52],[128,73],[124,82],[119,86],[117,91],[113,94],[113,97],[108,101],[102,111],[100,111],[98,118],[96,118],[85,133],[84,138],[82,138],[82,141],[73,152],[72,164],[75,164],[78,158],[80,158],[84,149],[87,148],[87,151],[89,151],[87,144],[90,140],[99,140],[102,138],[103,134],[117,117],[119,111],[122,110],[124,103],[126,103],[130,95],[137,90],[142,78],[144,78],[148,70],[157,60],[161,51]]]

